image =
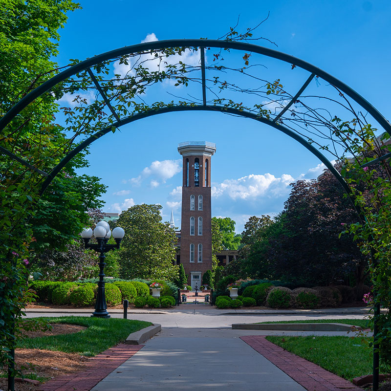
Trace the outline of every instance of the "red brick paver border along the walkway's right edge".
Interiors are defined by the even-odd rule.
[[[308,391],[363,391],[348,380],[269,342],[263,335],[249,335],[240,339]]]

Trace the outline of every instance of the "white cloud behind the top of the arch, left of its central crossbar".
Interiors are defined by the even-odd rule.
[[[145,42],[155,42],[158,41],[156,35],[154,33],[148,34],[141,43]],[[167,65],[178,64],[179,61],[182,61],[186,65],[196,66],[199,65],[199,52],[193,52],[190,49],[186,49],[182,52],[181,55],[174,54],[172,56],[157,56],[155,57],[155,53],[160,54],[159,52],[146,53],[142,54],[140,58],[138,57],[130,57],[127,59],[128,64],[120,64],[120,61],[116,61],[114,63],[114,74],[120,75],[121,77],[125,77],[126,75],[135,75],[135,71],[133,67],[138,60],[138,63],[142,63],[143,67],[148,68],[151,72],[163,70]],[[161,60],[161,61],[160,61]]]

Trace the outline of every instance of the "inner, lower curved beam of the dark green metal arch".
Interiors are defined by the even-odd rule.
[[[326,156],[323,153],[319,152],[314,146],[312,146],[310,143],[305,141],[305,139],[303,137],[301,137],[299,134],[288,129],[284,125],[276,124],[275,122],[273,122],[271,120],[260,117],[252,112],[249,112],[249,111],[245,111],[245,110],[240,111],[239,109],[225,108],[222,106],[210,106],[210,105],[209,106],[208,105],[207,106],[203,106],[203,105],[173,106],[173,107],[166,107],[166,108],[161,108],[161,109],[156,109],[156,110],[150,110],[150,111],[146,111],[144,113],[134,114],[128,118],[121,120],[120,122],[115,122],[113,124],[110,124],[106,129],[99,130],[95,134],[88,137],[85,141],[80,143],[76,148],[74,148],[71,152],[69,152],[56,167],[54,167],[54,169],[50,172],[48,177],[44,180],[44,182],[42,184],[40,195],[43,194],[43,192],[49,186],[49,184],[53,180],[53,178],[65,167],[65,165],[74,156],[76,156],[79,152],[81,152],[87,146],[92,144],[98,138],[111,132],[112,127],[120,127],[122,125],[130,124],[131,122],[134,122],[134,121],[137,121],[137,120],[140,120],[143,118],[148,118],[153,115],[176,112],[176,111],[215,111],[215,112],[229,113],[229,114],[238,115],[238,116],[244,117],[244,118],[250,118],[250,119],[256,120],[258,122],[261,122],[262,124],[269,125],[269,126],[273,127],[274,129],[280,130],[280,131],[282,131],[282,133],[284,133],[284,134],[288,135],[289,137],[293,138],[294,140],[298,141],[301,145],[304,146],[304,148],[306,148],[309,152],[314,154],[322,163],[324,163],[325,166],[327,167],[327,169],[329,169],[330,172],[337,178],[338,182],[341,184],[341,186],[343,187],[343,189],[345,190],[345,192],[348,194],[348,196],[350,198],[349,186],[346,183],[345,179],[342,177],[342,175],[328,161],[328,159],[326,158]],[[357,209],[357,207],[355,206],[355,204],[351,198],[350,198],[350,200],[351,200],[358,216],[361,217],[362,216],[361,212]]]

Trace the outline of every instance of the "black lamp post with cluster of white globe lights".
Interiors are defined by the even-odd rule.
[[[91,316],[96,316],[98,318],[109,318],[109,312],[107,312],[107,304],[105,297],[105,273],[103,272],[106,262],[105,262],[105,253],[114,248],[119,248],[122,238],[125,235],[125,231],[121,227],[116,227],[113,229],[112,233],[110,231],[110,226],[107,221],[99,221],[96,224],[94,229],[94,237],[97,240],[97,244],[88,244],[89,239],[92,237],[92,229],[85,228],[81,233],[81,237],[84,239],[84,247],[95,250],[99,254],[99,281],[98,281],[98,297],[96,298],[95,311]],[[116,241],[116,244],[107,244],[111,235]]]

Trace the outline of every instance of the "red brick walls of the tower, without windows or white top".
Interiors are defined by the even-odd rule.
[[[199,186],[194,183],[195,158],[199,159]],[[187,185],[187,159],[189,160],[189,186]],[[206,162],[207,161],[207,162]],[[207,183],[205,183],[205,167],[207,164]],[[212,230],[211,230],[211,157],[205,155],[191,155],[183,157],[183,185],[182,185],[182,219],[180,240],[180,261],[190,284],[190,272],[200,271],[203,274],[212,269]],[[190,210],[190,197],[195,196],[195,210]],[[202,211],[198,210],[198,195],[202,195]],[[190,235],[190,218],[195,219],[195,235]],[[202,235],[198,235],[198,217],[202,217]],[[195,246],[195,261],[190,262],[190,244]],[[202,244],[202,263],[198,262],[198,244]],[[202,276],[201,281],[202,283]]]

